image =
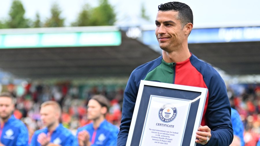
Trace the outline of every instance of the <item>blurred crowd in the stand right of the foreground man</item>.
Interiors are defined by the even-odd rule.
[[[245,146],[255,146],[260,137],[260,85],[231,85],[228,96],[244,124]]]

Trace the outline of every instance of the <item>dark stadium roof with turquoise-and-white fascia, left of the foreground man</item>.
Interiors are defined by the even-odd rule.
[[[70,34],[81,34],[76,36],[76,43],[70,42],[70,44],[66,44],[66,42],[71,41],[71,39],[65,37],[58,40],[56,38],[55,42],[60,42],[56,46],[50,45],[51,40],[55,39],[52,36],[49,36],[51,40],[45,37],[47,40],[44,41],[44,36],[37,38],[40,40],[33,36],[35,34],[42,35],[42,33],[57,36],[57,33],[60,32],[67,35],[68,38],[71,37]],[[86,35],[89,32],[94,34]],[[107,36],[105,32],[116,33],[116,35]],[[120,37],[117,37],[118,32]],[[16,44],[10,43],[8,46],[2,43],[0,68],[21,78],[125,77],[129,76],[137,66],[160,55],[138,40],[128,38],[125,33],[121,33],[118,27],[6,29],[1,33],[2,36],[10,34],[10,37],[13,37],[11,40]],[[25,33],[31,35],[23,36]],[[63,37],[64,34],[59,37]],[[27,37],[28,39],[24,41],[29,43],[36,41],[36,45],[34,45],[36,47],[28,46],[20,40],[21,36],[17,35]],[[104,36],[107,38],[102,40]],[[114,36],[116,37],[113,38]],[[18,41],[13,40],[15,37],[18,37]],[[6,38],[5,36],[5,42],[8,41]],[[65,42],[62,42],[64,39]],[[78,42],[80,40],[84,40],[85,44],[83,45],[85,46]],[[91,41],[86,42],[86,40]],[[38,43],[39,41],[41,43]],[[110,43],[113,41],[116,43],[102,44],[102,42]],[[19,43],[20,45],[17,45]],[[63,46],[64,43],[66,46]],[[19,48],[21,46],[23,47]]]

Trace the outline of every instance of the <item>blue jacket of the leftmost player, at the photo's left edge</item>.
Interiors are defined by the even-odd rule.
[[[2,125],[1,125],[2,127]],[[29,134],[25,124],[12,115],[3,125],[1,131],[1,143],[6,146],[28,145]]]

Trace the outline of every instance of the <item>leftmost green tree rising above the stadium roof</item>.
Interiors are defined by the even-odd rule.
[[[24,18],[25,10],[20,0],[14,0],[9,11],[8,28],[27,28],[30,20]]]

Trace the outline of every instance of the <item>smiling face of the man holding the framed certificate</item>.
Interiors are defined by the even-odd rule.
[[[179,12],[158,11],[155,20],[155,35],[161,49],[171,52],[182,46],[185,32],[178,18]]]

